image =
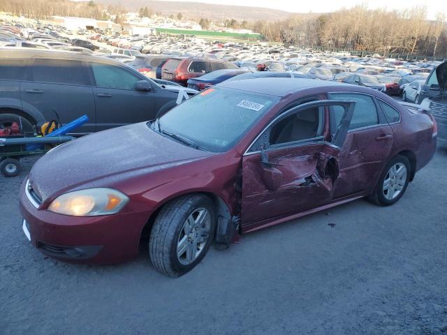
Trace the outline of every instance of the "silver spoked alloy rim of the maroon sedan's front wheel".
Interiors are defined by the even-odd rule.
[[[205,248],[211,232],[211,215],[205,208],[194,209],[186,218],[177,241],[177,258],[190,265]]]

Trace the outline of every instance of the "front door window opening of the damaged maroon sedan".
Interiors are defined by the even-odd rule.
[[[323,135],[323,108],[311,107],[279,120],[270,129],[269,144],[311,140]]]

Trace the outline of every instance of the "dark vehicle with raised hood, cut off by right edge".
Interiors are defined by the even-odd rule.
[[[430,108],[438,125],[438,139],[447,144],[447,61],[439,64],[427,77],[420,91],[421,105]]]

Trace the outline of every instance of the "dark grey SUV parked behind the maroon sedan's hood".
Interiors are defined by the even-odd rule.
[[[77,133],[154,119],[176,105],[182,87],[166,87],[118,61],[87,54],[0,49],[0,128],[19,121],[24,131],[87,114]],[[186,92],[193,95],[196,91]]]

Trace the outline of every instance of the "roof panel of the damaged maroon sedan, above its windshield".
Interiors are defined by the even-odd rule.
[[[302,89],[310,89],[312,87],[354,87],[351,84],[344,84],[342,82],[278,77],[225,81],[221,82],[219,86],[281,97],[295,93],[296,91],[300,91]]]

